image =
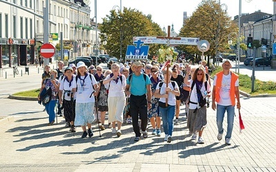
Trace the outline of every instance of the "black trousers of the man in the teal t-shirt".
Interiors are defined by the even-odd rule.
[[[146,131],[148,125],[148,105],[146,94],[143,96],[130,96],[130,115],[132,117],[132,127],[136,137],[140,137],[138,119],[141,120],[141,130]]]

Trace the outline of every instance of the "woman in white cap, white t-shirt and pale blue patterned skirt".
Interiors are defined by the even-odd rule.
[[[81,138],[86,138],[87,135],[91,138],[93,136],[91,125],[95,120],[93,115],[94,92],[97,92],[98,85],[95,77],[88,73],[86,64],[82,61],[77,63],[77,76],[73,88],[77,88],[75,125],[81,125],[83,130]]]

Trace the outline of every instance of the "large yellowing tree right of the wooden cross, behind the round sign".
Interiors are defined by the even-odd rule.
[[[224,52],[229,48],[228,35],[237,31],[237,24],[231,21],[219,3],[213,0],[204,0],[199,3],[193,15],[187,19],[179,36],[198,37],[200,40],[207,40],[210,43],[210,50],[204,54],[215,56],[216,41],[218,52]],[[179,49],[190,54],[201,54],[197,50],[197,46],[193,45],[181,45]]]

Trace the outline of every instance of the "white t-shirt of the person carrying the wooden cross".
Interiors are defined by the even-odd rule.
[[[179,89],[176,82],[175,82],[175,88],[173,88],[172,82],[175,82],[175,81],[170,81],[170,83],[168,83],[168,87],[170,87],[170,89],[174,89],[174,90]],[[157,84],[156,89],[160,89],[159,85],[160,85],[160,82]],[[166,83],[163,83],[159,93],[160,94],[166,94]],[[163,102],[163,103],[166,103],[166,98],[160,98],[159,101]],[[176,102],[175,94],[172,94],[171,92],[169,92],[168,93],[168,105],[175,106],[176,105],[175,102]]]

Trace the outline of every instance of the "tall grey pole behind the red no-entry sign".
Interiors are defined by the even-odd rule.
[[[49,0],[43,8],[43,43],[49,43]],[[49,58],[44,58],[44,65],[49,65]]]

